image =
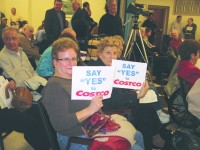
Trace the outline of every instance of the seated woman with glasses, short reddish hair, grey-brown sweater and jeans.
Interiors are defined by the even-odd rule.
[[[69,136],[86,137],[81,125],[103,107],[103,96],[95,96],[91,101],[71,100],[72,67],[77,66],[78,61],[78,45],[75,41],[70,38],[55,41],[52,46],[52,57],[55,73],[42,91],[42,102],[57,132],[60,149],[64,150]],[[136,137],[138,134],[139,132],[136,133]],[[141,141],[140,135],[139,142]],[[136,140],[134,150],[143,149],[137,145],[139,142]],[[87,146],[72,144],[71,149],[85,150]]]

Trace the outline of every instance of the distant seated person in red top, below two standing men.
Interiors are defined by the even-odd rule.
[[[173,29],[171,32],[171,39],[169,42],[169,47],[171,47],[174,52],[177,54],[178,48],[182,43],[182,39],[180,39],[179,31],[177,29]]]

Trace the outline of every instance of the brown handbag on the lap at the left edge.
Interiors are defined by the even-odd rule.
[[[17,87],[11,90],[13,99],[11,105],[20,112],[27,111],[33,103],[33,96],[26,87]],[[6,89],[6,97],[9,97],[8,89]]]

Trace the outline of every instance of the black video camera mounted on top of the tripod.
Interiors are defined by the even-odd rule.
[[[143,16],[148,16],[149,12],[144,11],[145,4],[138,4],[135,2],[132,2],[129,4],[128,8],[126,9],[126,13],[134,14],[134,15],[143,15]]]

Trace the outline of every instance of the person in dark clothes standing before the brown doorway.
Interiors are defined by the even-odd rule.
[[[156,22],[153,20],[153,13],[149,13],[148,19],[144,21],[142,27],[147,27],[151,29],[151,35],[148,37],[148,40],[151,44],[154,44],[157,25]]]

